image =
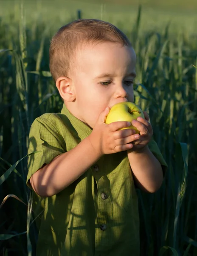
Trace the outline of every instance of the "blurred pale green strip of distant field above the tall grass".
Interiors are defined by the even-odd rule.
[[[0,1],[0,16],[3,20],[10,17],[19,20],[20,1]],[[130,3],[130,4],[129,4]],[[132,4],[131,4],[132,3]],[[23,8],[26,23],[35,22],[48,23],[52,31],[65,24],[67,20],[76,18],[77,10],[82,11],[83,18],[103,19],[119,26],[123,26],[125,31],[130,31],[132,24],[135,23],[136,13],[139,3],[143,6],[141,16],[141,30],[143,33],[147,30],[157,31],[171,23],[170,31],[172,33],[184,30],[186,34],[195,33],[197,24],[197,1],[68,1],[68,0],[35,0],[23,1]]]

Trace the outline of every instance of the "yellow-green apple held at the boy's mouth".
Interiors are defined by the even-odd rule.
[[[107,115],[105,123],[110,124],[112,122],[118,122],[118,121],[132,122],[132,120],[137,119],[138,116],[141,116],[144,118],[144,113],[141,110],[141,108],[138,107],[138,105],[132,102],[120,102],[113,105],[110,108],[110,112]],[[124,129],[134,129],[136,133],[140,134],[138,129],[133,125],[130,125],[129,127],[121,128],[120,130],[124,130]]]

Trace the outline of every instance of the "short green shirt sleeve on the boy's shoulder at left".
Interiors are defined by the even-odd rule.
[[[59,154],[65,153],[65,141],[58,136],[58,131],[53,122],[53,113],[45,113],[34,120],[29,132],[28,175],[26,184],[32,189],[30,178],[44,164],[51,161]]]

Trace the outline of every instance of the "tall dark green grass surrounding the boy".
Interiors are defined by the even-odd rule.
[[[149,112],[154,138],[169,166],[158,192],[138,191],[142,256],[196,256],[197,20],[193,12],[155,12],[145,5],[140,13],[136,5],[98,1],[77,5],[59,1],[56,7],[48,2],[47,8],[44,1],[25,2],[23,9],[17,1],[12,3],[12,8],[4,2],[0,9],[0,255],[35,255],[36,215],[25,185],[28,133],[37,116],[61,110],[49,73],[49,44],[54,32],[82,9],[82,17],[113,22],[132,41],[138,56],[135,102]]]

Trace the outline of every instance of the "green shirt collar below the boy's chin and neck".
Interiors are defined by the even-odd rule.
[[[66,105],[63,103],[61,114],[67,116],[73,128],[77,131],[79,138],[82,140],[89,136],[92,132],[92,128],[87,126],[84,122],[79,120],[76,116],[70,113]]]

